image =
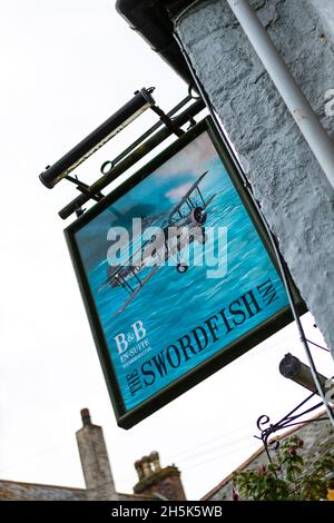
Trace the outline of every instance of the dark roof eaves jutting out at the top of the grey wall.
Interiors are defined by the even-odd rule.
[[[188,83],[193,76],[173,36],[173,12],[194,0],[117,0],[116,10],[160,57]]]

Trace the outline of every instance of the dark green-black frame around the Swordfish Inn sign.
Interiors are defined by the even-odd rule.
[[[217,154],[219,155],[227,174],[229,175],[238,195],[242,198],[242,201],[248,211],[248,215],[261,237],[263,244],[268,251],[271,259],[279,275],[279,268],[271,240],[267,236],[267,233],[262,223],[262,218],[258,216],[258,213],[252,203],[252,198],[247,194],[247,190],[244,187],[243,180],[237,172],[237,169],[234,164],[233,157],[229,155],[228,150],[225,148],[222,142],[215,125],[210,117],[206,117],[190,130],[188,130],[184,136],[173,142],[167,147],[163,152],[160,152],[156,158],[149,161],[145,167],[143,167],[135,175],[130,176],[124,184],[116,188],[112,193],[107,195],[101,201],[87,210],[82,216],[80,216],[76,221],[73,221],[69,227],[65,229],[65,236],[67,245],[70,251],[72,265],[75,267],[76,276],[80,287],[81,296],[85,303],[87,316],[89,319],[90,328],[92,332],[94,341],[97,347],[99,355],[100,364],[104,371],[105,379],[107,383],[107,388],[111,398],[114,406],[115,415],[117,423],[122,428],[130,428],[136,425],[138,422],[149,416],[154,412],[161,408],[167,403],[171,402],[176,397],[184,394],[189,388],[197,385],[203,379],[210,376],[213,373],[219,371],[222,367],[228,363],[237,359],[244,353],[253,348],[258,343],[266,339],[272,334],[276,333],[278,329],[283,328],[285,325],[293,320],[293,315],[289,306],[282,308],[275,315],[263,322],[261,325],[249,330],[247,334],[240,336],[233,343],[227,346],[224,346],[220,351],[217,351],[213,356],[203,362],[202,364],[195,366],[184,376],[175,379],[173,383],[161,388],[158,393],[154,394],[149,398],[145,399],[143,403],[137,405],[131,409],[126,409],[121,396],[119,385],[117,383],[116,373],[114,369],[112,361],[109,356],[107,341],[104,335],[104,330],[99,320],[98,312],[96,309],[95,300],[89,287],[88,278],[85,273],[78,245],[76,243],[76,233],[86,224],[88,224],[92,218],[100,214],[106,207],[116,201],[122,195],[125,195],[129,189],[137,185],[140,180],[149,176],[155,169],[157,169],[161,164],[167,161],[176,152],[178,152],[183,147],[193,141],[202,132],[207,131],[213,145],[215,146]],[[291,280],[291,278],[289,278]],[[297,305],[298,314],[304,314],[307,308],[305,303],[302,300],[296,287],[291,280],[293,288],[294,300]]]

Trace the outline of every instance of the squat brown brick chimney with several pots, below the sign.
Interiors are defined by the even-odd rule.
[[[175,465],[161,468],[157,452],[137,461],[135,468],[139,480],[134,486],[135,494],[156,495],[170,501],[186,500],[179,470]]]

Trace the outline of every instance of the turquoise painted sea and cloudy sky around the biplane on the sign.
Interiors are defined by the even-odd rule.
[[[200,193],[209,201],[205,229],[224,230],[225,240],[218,241],[217,234],[208,235],[205,246],[194,241],[193,259],[203,256],[205,248],[210,266],[189,264],[181,274],[177,260],[174,266],[163,265],[135,296],[139,285],[135,276],[127,279],[131,289],[108,285],[110,228],[130,229],[132,218],[141,218],[145,227],[160,226],[206,171],[200,179]],[[126,411],[288,304],[282,280],[206,131],[85,225],[76,240]],[[135,250],[139,240],[138,236],[131,238]],[[217,267],[212,266],[213,259]],[[216,270],[214,277],[209,269]],[[138,276],[143,282],[146,273]]]

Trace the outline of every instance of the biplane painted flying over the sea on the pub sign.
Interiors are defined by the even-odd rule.
[[[205,171],[199,176],[179,203],[168,213],[160,228],[160,234],[154,234],[144,241],[121,266],[108,266],[107,279],[100,285],[99,292],[120,286],[129,294],[128,299],[116,312],[115,316],[120,314],[134,300],[144,285],[168,258],[176,259],[176,269],[179,274],[187,272],[188,266],[181,263],[180,254],[186,245],[194,240],[205,243],[204,224],[207,219],[207,207],[215,197],[213,195],[205,200],[198,187],[207,172]],[[170,235],[170,230],[174,231],[174,235]],[[150,270],[144,274],[145,269],[148,268]]]

